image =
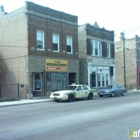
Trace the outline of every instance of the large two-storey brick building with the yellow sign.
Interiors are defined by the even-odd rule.
[[[1,96],[14,94],[15,88],[9,88],[14,83],[20,98],[49,95],[79,83],[77,16],[32,2],[10,13],[1,8]]]

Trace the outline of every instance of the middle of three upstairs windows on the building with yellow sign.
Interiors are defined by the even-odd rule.
[[[53,51],[59,52],[59,35],[58,34],[55,34],[55,33],[53,34],[52,42],[53,42]]]

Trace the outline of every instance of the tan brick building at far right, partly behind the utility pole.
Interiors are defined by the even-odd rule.
[[[140,37],[125,39],[125,65],[127,88],[140,87]],[[116,82],[124,85],[123,42],[115,42]]]

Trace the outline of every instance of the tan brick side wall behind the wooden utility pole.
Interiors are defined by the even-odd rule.
[[[121,41],[115,43],[116,47],[116,83],[124,85],[124,61],[123,61],[123,44]],[[137,87],[137,74],[136,74],[136,45],[135,39],[129,39],[125,41],[125,63],[126,63],[126,85],[128,88]]]

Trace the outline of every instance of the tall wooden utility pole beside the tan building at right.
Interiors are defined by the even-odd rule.
[[[126,64],[125,64],[125,35],[124,32],[120,33],[120,39],[123,42],[123,67],[124,67],[124,87],[126,88]]]

